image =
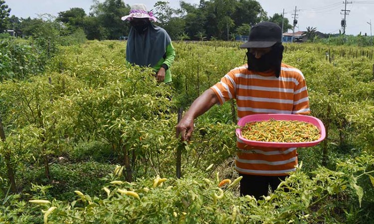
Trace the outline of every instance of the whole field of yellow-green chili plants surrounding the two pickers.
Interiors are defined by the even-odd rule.
[[[303,72],[327,138],[298,149],[297,171],[256,201],[239,197],[233,169],[235,102],[200,116],[192,141],[175,137],[178,113],[244,64],[245,50],[174,45],[172,84],[127,65],[119,41],[60,47],[32,76],[9,70],[0,223],[373,223],[374,48],[286,45],[283,61]]]

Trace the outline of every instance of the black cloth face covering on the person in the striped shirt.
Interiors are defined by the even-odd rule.
[[[255,72],[265,72],[273,70],[275,76],[279,78],[284,47],[281,43],[276,43],[271,47],[271,51],[262,55],[261,58],[255,58],[252,53],[247,52],[248,70]]]

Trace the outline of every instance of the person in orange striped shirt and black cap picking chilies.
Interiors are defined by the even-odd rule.
[[[309,114],[305,79],[300,70],[282,63],[282,30],[272,22],[254,25],[247,48],[248,63],[228,72],[191,105],[176,127],[177,137],[189,140],[196,117],[215,104],[236,100],[238,119],[250,114]],[[296,148],[251,147],[237,139],[235,169],[243,179],[240,194],[256,199],[275,190],[297,165]]]

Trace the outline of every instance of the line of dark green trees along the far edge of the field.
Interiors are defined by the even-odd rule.
[[[11,6],[11,5],[10,5]],[[58,12],[57,16],[39,15],[38,18],[10,16],[11,8],[0,0],[0,33],[14,30],[16,36],[32,36],[47,20],[59,23],[65,33],[83,30],[89,40],[119,39],[127,36],[129,23],[121,17],[129,14],[130,5],[123,0],[93,0],[88,14],[83,8],[73,7]],[[268,16],[256,0],[200,0],[199,4],[180,1],[173,8],[168,1],[158,1],[151,9],[172,39],[232,40],[237,35],[248,35],[250,27],[260,21],[272,21],[282,26],[282,14]],[[292,28],[284,18],[286,32]]]

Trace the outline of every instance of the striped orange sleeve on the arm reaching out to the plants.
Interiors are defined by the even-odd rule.
[[[231,70],[221,81],[210,87],[215,93],[219,100],[219,104],[222,105],[226,101],[236,98],[236,81],[235,73]]]

